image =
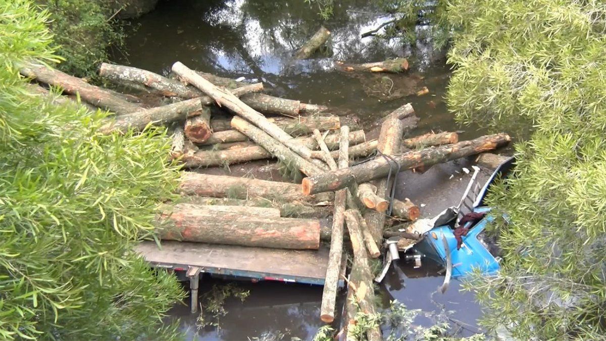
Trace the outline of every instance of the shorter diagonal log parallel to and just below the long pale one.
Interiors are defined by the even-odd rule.
[[[324,172],[324,170],[315,164],[305,160],[303,157],[295,154],[293,150],[288,149],[283,144],[279,143],[279,141],[276,141],[268,133],[265,133],[263,130],[253,126],[253,124],[248,123],[242,118],[234,117],[233,120],[231,120],[231,126],[244,133],[244,135],[247,135],[251,140],[258,143],[259,146],[266,149],[271,155],[274,155],[283,163],[295,166],[297,169],[301,170],[303,174],[310,176]],[[294,139],[291,138],[291,140]],[[302,143],[298,143],[298,145],[304,147]],[[307,149],[307,147],[305,148]]]

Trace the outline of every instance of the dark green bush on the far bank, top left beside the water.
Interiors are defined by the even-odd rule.
[[[37,0],[50,13],[48,25],[64,58],[59,69],[70,75],[95,76],[108,50],[120,49],[124,30],[113,17],[116,0]]]

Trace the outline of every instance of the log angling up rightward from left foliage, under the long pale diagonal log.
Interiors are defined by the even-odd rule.
[[[236,96],[245,93],[258,92],[263,90],[263,84],[250,84],[233,90]],[[114,131],[127,132],[128,129],[143,130],[148,124],[161,126],[174,121],[185,121],[188,114],[201,110],[203,106],[212,104],[213,100],[208,96],[192,98],[191,100],[168,104],[167,106],[155,107],[139,110],[120,115],[115,119],[109,118],[107,123],[100,128],[101,132],[111,133]]]

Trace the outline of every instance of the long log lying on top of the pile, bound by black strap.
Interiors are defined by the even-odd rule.
[[[393,155],[401,170],[424,167],[425,169],[437,163],[456,160],[470,155],[476,155],[488,150],[494,150],[505,146],[511,141],[506,133],[498,133],[479,137],[471,141],[462,141],[442,147],[430,147],[421,150],[413,150],[401,155]],[[347,169],[331,170],[324,174],[315,175],[303,179],[302,189],[304,194],[316,194],[320,192],[336,191],[347,187],[351,182],[367,182],[377,178],[385,177],[390,171],[390,166],[384,158],[376,158],[357,166]]]

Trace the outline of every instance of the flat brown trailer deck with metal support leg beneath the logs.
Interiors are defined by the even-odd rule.
[[[155,268],[184,272],[191,289],[191,312],[198,308],[200,274],[244,280],[272,280],[308,285],[324,285],[328,248],[287,250],[235,245],[162,241],[142,241],[136,251]],[[339,286],[344,285],[345,258]]]

